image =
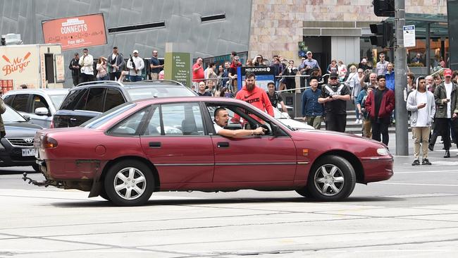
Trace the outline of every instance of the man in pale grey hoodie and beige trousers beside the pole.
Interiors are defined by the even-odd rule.
[[[423,149],[422,165],[431,165],[428,160],[428,140],[431,124],[435,115],[435,101],[432,92],[426,90],[426,79],[416,80],[416,90],[407,97],[407,110],[411,111],[410,125],[414,138],[414,162],[412,166],[420,165],[420,143]]]

